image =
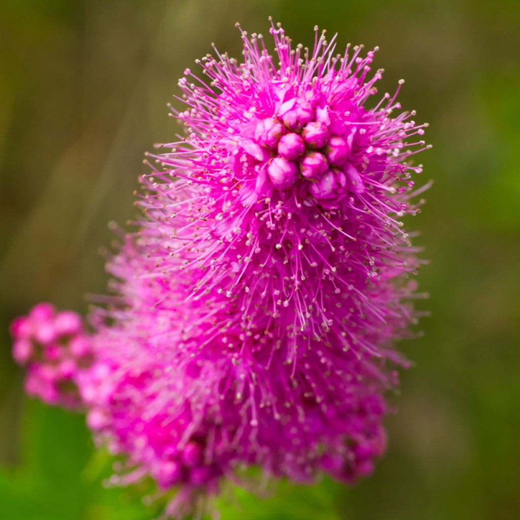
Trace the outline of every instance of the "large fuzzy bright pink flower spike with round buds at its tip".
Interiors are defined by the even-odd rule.
[[[88,425],[126,456],[119,482],[178,488],[171,514],[250,465],[370,473],[406,365],[393,343],[417,316],[401,218],[424,189],[426,125],[400,111],[402,81],[376,96],[373,51],[270,33],[274,54],[241,31],[242,61],[215,49],[179,81],[185,135],[149,155],[144,218],[109,259],[116,295],[74,378]]]

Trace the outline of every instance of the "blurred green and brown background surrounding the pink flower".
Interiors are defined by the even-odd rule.
[[[238,491],[224,520],[520,518],[520,3],[516,0],[2,0],[0,2],[0,516],[146,520],[106,489],[81,416],[27,399],[8,322],[42,300],[86,311],[106,291],[98,248],[135,216],[142,157],[176,132],[166,102],[210,43],[239,56],[234,23],[295,41],[313,27],[379,45],[381,90],[431,126],[423,213],[431,260],[424,335],[402,344],[389,448],[354,488]]]

